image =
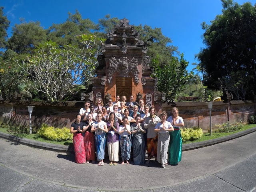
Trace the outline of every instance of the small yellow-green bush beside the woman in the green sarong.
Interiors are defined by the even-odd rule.
[[[194,141],[202,137],[203,131],[201,128],[197,128],[196,130],[192,128],[184,128],[180,130],[182,141]]]

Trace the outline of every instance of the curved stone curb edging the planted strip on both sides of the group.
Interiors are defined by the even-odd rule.
[[[193,150],[193,149],[202,148],[202,147],[206,147],[206,146],[210,146],[210,145],[215,145],[215,144],[229,141],[229,140],[232,140],[232,139],[235,139],[238,137],[242,137],[244,135],[250,134],[255,131],[256,131],[256,127],[250,128],[248,130],[238,132],[235,134],[231,134],[228,136],[208,140],[208,141],[183,144],[182,151]],[[44,143],[44,142],[39,142],[39,141],[35,141],[35,140],[12,136],[12,135],[5,134],[2,132],[0,132],[0,138],[4,138],[4,139],[10,140],[10,141],[14,141],[18,144],[23,144],[23,145],[27,145],[27,146],[31,146],[31,147],[35,147],[35,148],[57,151],[57,152],[74,153],[73,146],[64,146],[64,145],[58,145],[58,144]]]

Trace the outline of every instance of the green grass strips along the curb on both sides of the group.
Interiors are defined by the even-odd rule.
[[[205,133],[200,139],[195,140],[195,141],[184,142],[184,144],[196,143],[196,142],[216,139],[216,138],[228,136],[228,135],[231,135],[231,134],[234,134],[234,133],[237,133],[237,132],[241,132],[241,131],[244,131],[244,130],[247,130],[247,129],[250,129],[250,128],[254,128],[254,127],[256,127],[256,124],[244,125],[244,126],[242,126],[242,128],[240,130],[233,131],[233,132],[228,132],[228,133],[212,132],[212,135],[210,135],[209,133]],[[4,124],[0,124],[0,132],[10,134],[10,135],[13,135],[13,136],[16,136],[16,137],[36,140],[36,141],[40,141],[40,142],[60,144],[60,145],[66,145],[66,146],[72,146],[73,145],[72,140],[57,142],[57,141],[50,141],[50,140],[47,140],[45,138],[39,137],[37,134],[28,134],[28,135],[26,135],[26,134],[10,133],[10,132],[8,132],[8,130],[6,128],[6,125],[4,125]]]

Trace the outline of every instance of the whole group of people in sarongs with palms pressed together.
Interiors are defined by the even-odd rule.
[[[183,119],[178,116],[178,108],[172,109],[172,116],[167,118],[162,112],[160,118],[155,114],[155,108],[138,102],[126,102],[126,97],[116,96],[116,102],[110,98],[108,107],[104,106],[102,98],[97,98],[95,105],[86,101],[84,108],[76,115],[70,132],[73,133],[73,143],[76,163],[95,162],[104,165],[105,145],[107,142],[109,165],[129,163],[131,150],[134,164],[145,163],[147,148],[148,160],[155,157],[165,168],[168,163],[176,165],[181,160],[182,138],[180,127]],[[120,147],[120,152],[119,152]],[[95,155],[96,154],[96,155]],[[167,160],[168,159],[168,160]]]

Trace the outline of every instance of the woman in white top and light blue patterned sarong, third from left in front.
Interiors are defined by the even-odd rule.
[[[108,132],[106,122],[102,121],[102,113],[97,114],[98,121],[92,124],[91,132],[95,132],[96,157],[98,165],[104,165],[106,133]]]

